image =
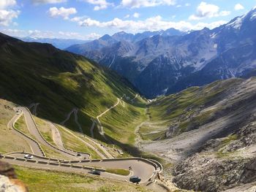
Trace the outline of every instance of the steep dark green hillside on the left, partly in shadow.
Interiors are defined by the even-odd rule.
[[[105,132],[109,139],[117,142],[127,142],[134,137],[131,130],[143,118],[145,101],[136,96],[132,85],[116,73],[52,45],[26,43],[4,34],[0,34],[0,57],[1,99],[28,107],[39,103],[37,115],[55,123],[61,123],[69,112],[78,109],[78,123],[88,135],[91,135],[91,118],[96,120],[98,115],[122,99],[124,107],[118,106],[117,113],[110,114],[113,123],[108,123]],[[103,117],[104,126],[108,119]],[[71,114],[65,125],[80,131],[78,123]],[[98,139],[105,141],[97,134],[97,127],[94,132]]]

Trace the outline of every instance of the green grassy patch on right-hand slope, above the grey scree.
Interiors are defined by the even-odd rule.
[[[184,131],[199,128],[217,118],[218,112],[225,110],[214,104],[222,101],[236,85],[243,80],[229,79],[213,82],[203,87],[188,88],[180,93],[160,97],[148,105],[148,115],[154,126],[143,126],[140,134],[144,139],[163,139],[167,128],[173,128],[172,137]],[[213,106],[213,107],[211,107]],[[210,107],[210,110],[203,110]],[[152,134],[148,132],[152,131]]]

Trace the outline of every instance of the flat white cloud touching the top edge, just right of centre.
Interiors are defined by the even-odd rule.
[[[122,0],[121,7],[139,8],[139,7],[156,7],[159,5],[174,5],[176,0]]]

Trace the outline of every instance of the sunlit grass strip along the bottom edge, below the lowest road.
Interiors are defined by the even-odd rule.
[[[109,180],[89,174],[72,174],[49,170],[31,169],[15,166],[18,178],[22,180],[31,192],[54,191],[54,192],[105,192],[105,191],[129,191],[146,192],[140,185]]]

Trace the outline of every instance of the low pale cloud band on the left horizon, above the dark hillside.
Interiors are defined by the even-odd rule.
[[[98,39],[101,37],[99,34],[91,33],[86,35],[81,35],[75,32],[69,31],[39,31],[39,30],[19,30],[19,29],[4,29],[1,30],[2,33],[10,35],[12,37],[31,37],[31,38],[59,38],[59,39],[84,39],[84,40],[91,40],[91,39]]]

